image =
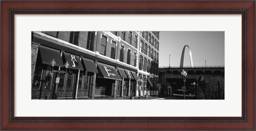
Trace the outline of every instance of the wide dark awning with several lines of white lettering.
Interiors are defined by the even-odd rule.
[[[100,74],[98,75],[98,77],[122,80],[122,78],[118,75],[115,67],[98,62],[98,68],[100,70]]]

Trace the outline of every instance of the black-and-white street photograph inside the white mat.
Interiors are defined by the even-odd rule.
[[[33,100],[225,100],[224,31],[32,31]]]

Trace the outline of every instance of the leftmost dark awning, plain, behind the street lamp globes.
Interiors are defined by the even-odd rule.
[[[57,67],[63,67],[63,61],[60,56],[59,50],[54,50],[49,47],[39,46],[42,63],[51,65],[51,61],[54,59]]]

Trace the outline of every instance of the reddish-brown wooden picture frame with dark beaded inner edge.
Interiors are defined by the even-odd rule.
[[[255,1],[2,1],[1,129],[255,129]],[[15,14],[242,14],[242,117],[15,117]]]

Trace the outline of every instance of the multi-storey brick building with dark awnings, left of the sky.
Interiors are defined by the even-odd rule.
[[[31,38],[32,99],[153,95],[159,31],[34,31]]]

